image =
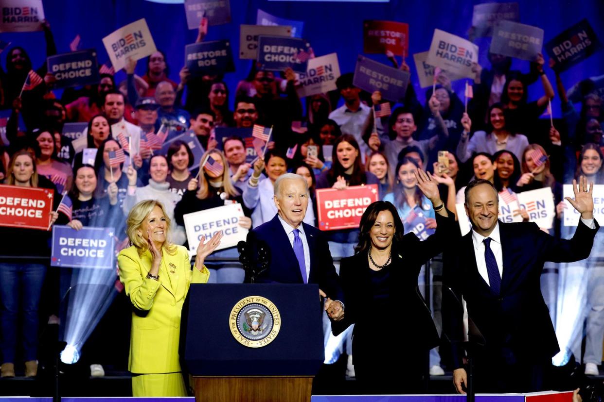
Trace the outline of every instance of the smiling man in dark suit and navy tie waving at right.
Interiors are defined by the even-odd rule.
[[[541,294],[545,261],[573,262],[590,255],[599,228],[593,218],[593,184],[573,180],[574,199],[567,200],[581,214],[572,239],[550,236],[533,222],[498,221],[498,194],[490,181],[475,180],[466,187],[466,213],[472,230],[451,244],[445,260],[443,336],[452,342],[453,380],[458,392],[467,385],[463,368],[460,301],[484,337],[474,348],[476,392],[533,392],[551,389],[551,358],[560,351],[547,306]],[[450,260],[449,260],[450,258]],[[449,297],[448,297],[449,296]],[[448,297],[448,300],[446,298]],[[475,331],[471,331],[474,334]]]

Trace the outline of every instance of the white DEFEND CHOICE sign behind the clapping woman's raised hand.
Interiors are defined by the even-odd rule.
[[[201,236],[205,236],[207,240],[219,231],[222,231],[223,237],[216,250],[234,247],[241,240],[245,240],[248,230],[239,225],[239,218],[242,216],[243,209],[239,203],[182,215],[187,231],[189,253],[193,256],[197,254]]]

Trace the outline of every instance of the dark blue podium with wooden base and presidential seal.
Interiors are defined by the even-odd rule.
[[[180,356],[196,401],[310,401],[324,361],[316,284],[191,284]]]

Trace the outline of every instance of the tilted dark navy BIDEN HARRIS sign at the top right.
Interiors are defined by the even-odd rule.
[[[557,72],[568,70],[599,49],[596,33],[586,19],[545,43],[545,51],[556,62],[553,69]]]

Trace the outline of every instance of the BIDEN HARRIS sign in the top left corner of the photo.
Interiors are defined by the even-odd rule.
[[[0,32],[42,31],[42,0],[2,0]]]

